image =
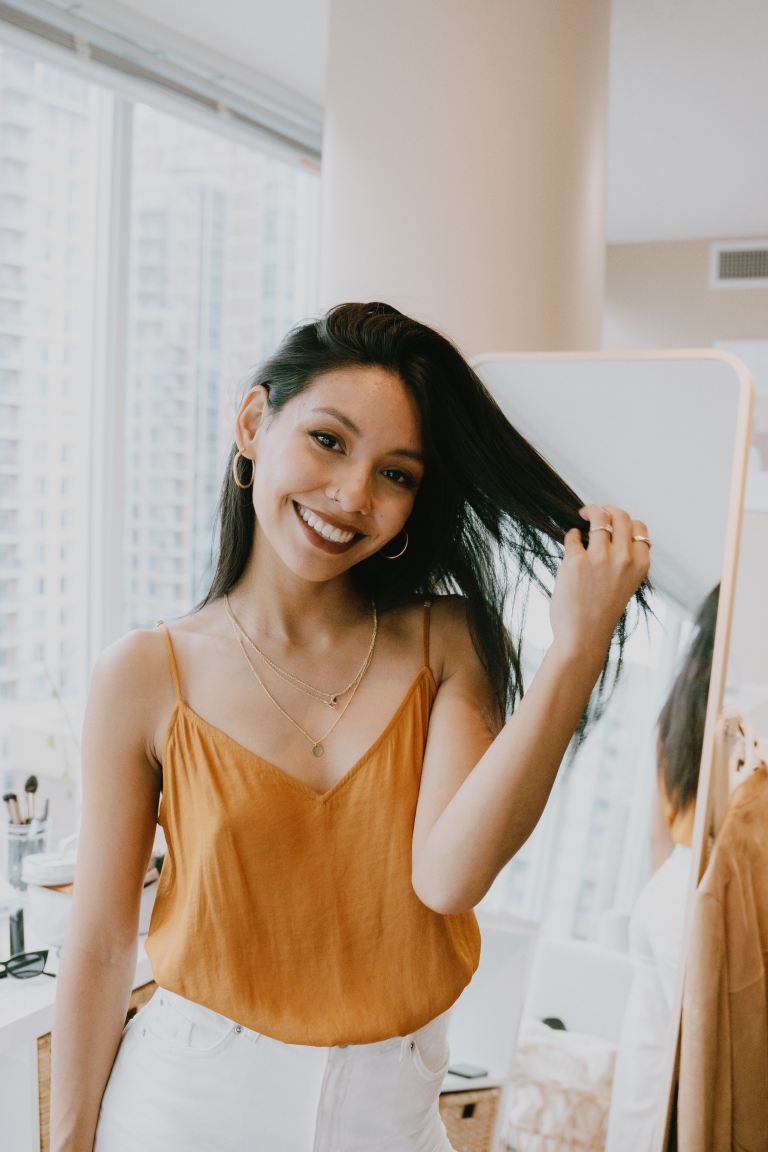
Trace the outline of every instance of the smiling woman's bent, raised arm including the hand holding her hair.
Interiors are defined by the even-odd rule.
[[[435,911],[474,908],[533,832],[614,629],[647,574],[647,547],[631,540],[645,528],[606,507],[610,517],[590,505],[590,520],[594,528],[613,518],[613,540],[595,533],[584,548],[578,530],[565,538],[550,607],[554,642],[495,738],[491,684],[464,606],[456,598],[438,605],[444,674],[429,720],[412,856],[413,889]]]

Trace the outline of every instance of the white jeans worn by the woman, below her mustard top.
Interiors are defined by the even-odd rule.
[[[438,1107],[448,1015],[314,1047],[159,987],[123,1029],[93,1152],[454,1152]]]

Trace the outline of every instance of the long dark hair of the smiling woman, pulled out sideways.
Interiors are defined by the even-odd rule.
[[[524,691],[520,639],[504,624],[505,608],[523,592],[524,620],[530,584],[550,593],[547,576],[560,564],[565,532],[578,528],[586,543],[587,524],[578,514],[584,501],[512,427],[457,348],[389,304],[339,304],[320,319],[298,325],[245,387],[264,385],[269,408],[277,410],[325,372],[360,365],[395,372],[416,399],[426,468],[405,525],[409,547],[403,558],[388,563],[370,556],[351,576],[381,611],[416,596],[463,594],[501,722]],[[236,452],[233,445],[219,499],[213,582],[193,611],[237,583],[251,551],[253,506],[251,493],[233,479]],[[634,596],[642,612],[649,611],[648,591],[646,581]],[[618,655],[610,689],[606,658],[577,743],[613,692],[628,635],[625,611],[614,637]]]

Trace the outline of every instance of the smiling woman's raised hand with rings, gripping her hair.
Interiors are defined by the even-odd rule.
[[[592,654],[602,664],[614,629],[651,567],[651,548],[632,537],[649,532],[616,505],[585,505],[579,515],[590,521],[590,541],[585,548],[578,528],[565,533],[549,620],[558,649]],[[595,531],[602,525],[611,526],[613,535]]]

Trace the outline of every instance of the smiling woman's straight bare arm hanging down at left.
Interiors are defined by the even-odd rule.
[[[150,720],[158,641],[129,632],[100,654],[91,677],[73,909],[52,1033],[52,1152],[91,1152],[136,972],[160,796]]]

